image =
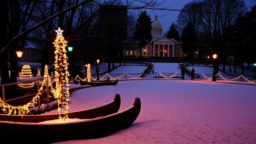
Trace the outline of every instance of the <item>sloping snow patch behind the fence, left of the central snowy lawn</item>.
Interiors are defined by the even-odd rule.
[[[142,73],[147,66],[120,66],[114,69],[110,74],[124,74],[124,73]]]

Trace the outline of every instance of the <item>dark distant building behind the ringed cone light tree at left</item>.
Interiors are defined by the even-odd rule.
[[[19,62],[38,63],[41,60],[41,49],[37,48],[34,43],[26,42],[23,48],[23,54]]]

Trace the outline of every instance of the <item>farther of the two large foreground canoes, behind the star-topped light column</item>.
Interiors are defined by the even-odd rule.
[[[114,100],[101,107],[75,111],[68,113],[69,118],[80,118],[80,119],[91,119],[96,117],[103,117],[106,115],[117,113],[121,104],[120,95],[116,94]],[[48,114],[48,115],[7,115],[0,114],[0,121],[12,121],[12,122],[24,122],[24,123],[39,123],[47,120],[58,119],[59,114]]]

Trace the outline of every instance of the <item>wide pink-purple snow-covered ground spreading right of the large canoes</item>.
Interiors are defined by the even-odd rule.
[[[99,107],[119,93],[119,111],[139,97],[141,112],[131,127],[113,135],[59,144],[255,144],[254,89],[204,81],[143,80],[78,90],[70,96],[69,111]]]

